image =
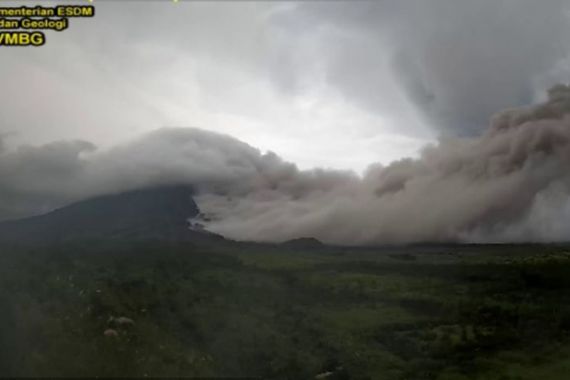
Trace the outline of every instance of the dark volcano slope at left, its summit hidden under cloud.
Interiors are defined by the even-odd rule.
[[[77,239],[196,240],[216,235],[190,229],[200,210],[189,186],[138,189],[83,200],[50,213],[0,223],[0,242]]]

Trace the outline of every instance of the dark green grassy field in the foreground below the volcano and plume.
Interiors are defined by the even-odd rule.
[[[569,301],[562,245],[3,248],[0,375],[567,379]]]

